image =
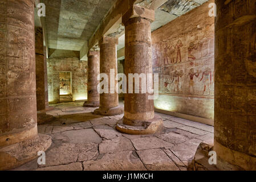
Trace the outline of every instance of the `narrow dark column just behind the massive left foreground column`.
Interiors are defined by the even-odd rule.
[[[43,29],[35,27],[35,65],[36,65],[36,107],[38,113],[38,124],[49,122],[54,117],[46,114],[46,92],[45,92],[45,62],[43,48]],[[47,94],[48,96],[48,94]]]

